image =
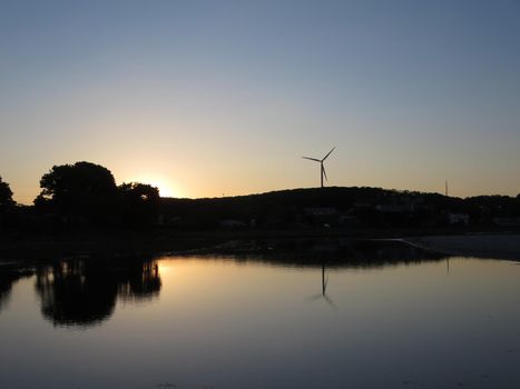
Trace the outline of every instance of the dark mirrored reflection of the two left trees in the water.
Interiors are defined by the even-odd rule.
[[[118,296],[151,299],[160,290],[157,263],[143,259],[62,260],[37,271],[43,317],[55,326],[94,326],[114,312]]]

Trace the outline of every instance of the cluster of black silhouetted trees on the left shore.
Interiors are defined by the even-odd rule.
[[[75,230],[102,227],[147,228],[156,223],[159,190],[140,182],[116,184],[107,168],[91,162],[55,166],[40,179],[32,207],[16,206],[0,179],[0,227]]]

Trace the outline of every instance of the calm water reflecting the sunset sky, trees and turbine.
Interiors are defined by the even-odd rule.
[[[519,265],[377,256],[0,267],[0,388],[520,388]]]

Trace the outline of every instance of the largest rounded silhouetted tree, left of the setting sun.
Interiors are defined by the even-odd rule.
[[[116,180],[102,166],[90,162],[55,166],[40,180],[35,205],[60,216],[106,221],[115,213]]]

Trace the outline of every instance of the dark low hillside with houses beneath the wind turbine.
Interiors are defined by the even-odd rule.
[[[160,209],[163,222],[179,228],[433,227],[458,222],[483,226],[498,218],[514,221],[520,217],[520,200],[327,187],[224,198],[164,198]]]

